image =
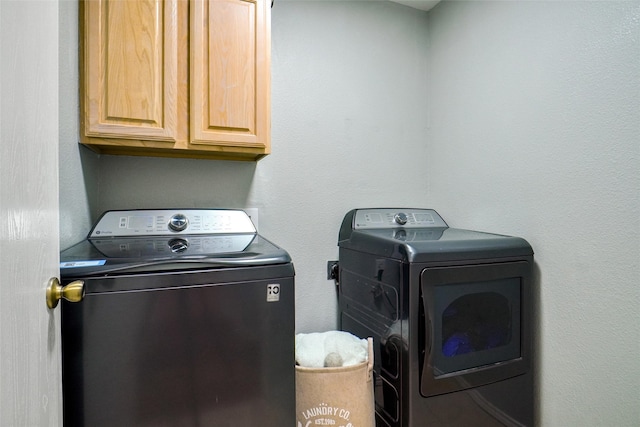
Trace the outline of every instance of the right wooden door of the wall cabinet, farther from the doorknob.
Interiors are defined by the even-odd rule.
[[[193,148],[268,154],[270,17],[265,0],[192,0]]]

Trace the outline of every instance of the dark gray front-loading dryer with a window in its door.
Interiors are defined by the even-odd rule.
[[[533,250],[431,209],[356,209],[341,328],[373,337],[377,426],[533,426]]]

